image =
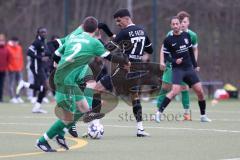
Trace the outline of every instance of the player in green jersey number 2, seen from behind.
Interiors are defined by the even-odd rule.
[[[56,101],[58,107],[64,107],[73,114],[69,119],[58,119],[49,130],[37,140],[36,147],[44,152],[54,152],[48,144],[49,139],[56,137],[57,143],[68,149],[65,142],[63,130],[69,128],[80,117],[85,121],[91,121],[95,118],[102,118],[104,114],[89,112],[89,105],[86,97],[78,88],[79,81],[83,81],[86,75],[91,74],[88,63],[93,57],[105,57],[110,54],[106,51],[103,44],[93,38],[97,30],[97,20],[94,17],[87,17],[83,22],[84,32],[71,37],[55,52],[61,56],[58,62],[57,70],[54,76],[56,86]],[[88,86],[88,84],[87,84]]]

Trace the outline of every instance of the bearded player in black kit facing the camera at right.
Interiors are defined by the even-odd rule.
[[[196,93],[200,108],[202,122],[210,122],[206,116],[206,101],[202,84],[197,76],[196,71],[199,71],[196,59],[194,57],[190,35],[187,32],[181,32],[180,21],[178,17],[171,19],[171,28],[173,35],[165,38],[163,42],[164,57],[172,63],[172,89],[166,95],[159,108],[159,114],[163,113],[164,109],[170,103],[171,99],[181,91],[181,82],[187,83]]]

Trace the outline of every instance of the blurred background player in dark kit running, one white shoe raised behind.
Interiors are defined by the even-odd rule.
[[[36,39],[32,45],[28,48],[27,54],[31,57],[30,69],[34,75],[34,83],[25,82],[23,80],[17,86],[16,94],[19,97],[22,88],[31,88],[38,91],[37,102],[34,104],[32,109],[33,113],[47,113],[46,110],[41,108],[42,100],[46,95],[47,91],[47,75],[44,67],[44,62],[49,60],[49,55],[46,52],[45,39],[47,36],[47,29],[40,27],[37,30]]]

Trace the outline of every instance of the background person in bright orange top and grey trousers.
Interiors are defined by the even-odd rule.
[[[12,37],[7,43],[9,51],[8,62],[8,91],[11,103],[23,103],[20,97],[16,97],[17,84],[22,80],[24,66],[23,50],[17,37]]]

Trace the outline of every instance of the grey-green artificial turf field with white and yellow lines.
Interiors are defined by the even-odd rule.
[[[0,159],[7,160],[220,160],[240,159],[240,101],[222,101],[211,106],[211,123],[199,122],[197,101],[191,101],[193,121],[181,121],[181,103],[174,101],[166,109],[161,123],[151,121],[155,104],[143,103],[144,126],[151,137],[137,138],[131,107],[120,102],[102,120],[101,140],[71,138],[71,149],[43,153],[34,147],[36,139],[55,121],[54,104],[44,104],[48,114],[32,114],[32,104],[0,104]],[[172,115],[177,118],[172,119]],[[78,123],[78,133],[87,130]],[[54,141],[53,148],[58,149]]]

